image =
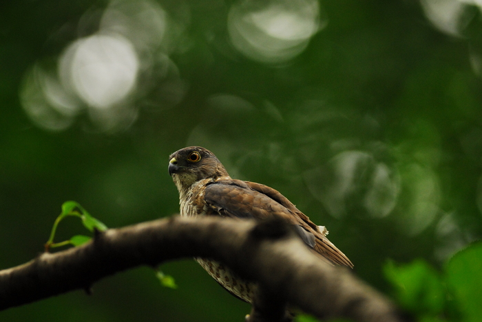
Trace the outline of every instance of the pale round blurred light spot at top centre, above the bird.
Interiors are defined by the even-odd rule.
[[[326,25],[315,0],[278,0],[263,5],[244,1],[231,6],[231,43],[248,58],[267,63],[291,60],[306,49],[310,38]]]

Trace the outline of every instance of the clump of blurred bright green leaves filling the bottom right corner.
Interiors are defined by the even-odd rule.
[[[472,244],[444,266],[443,272],[415,260],[384,266],[402,308],[419,321],[480,321],[482,293],[482,243]]]

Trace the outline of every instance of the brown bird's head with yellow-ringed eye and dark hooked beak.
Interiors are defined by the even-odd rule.
[[[213,152],[200,146],[189,146],[171,154],[168,170],[179,191],[202,179],[229,176]]]

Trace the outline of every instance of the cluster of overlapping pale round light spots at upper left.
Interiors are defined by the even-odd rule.
[[[116,133],[132,126],[144,106],[175,106],[187,84],[169,58],[179,37],[172,23],[152,0],[112,0],[100,15],[85,12],[77,30],[88,36],[66,43],[56,70],[49,58],[25,73],[19,93],[25,113],[47,130],[87,117],[85,130]]]

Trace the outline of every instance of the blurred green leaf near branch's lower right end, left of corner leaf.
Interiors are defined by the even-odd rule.
[[[384,274],[395,286],[400,305],[417,315],[435,315],[443,311],[446,292],[439,273],[423,260],[396,266],[388,262]]]

